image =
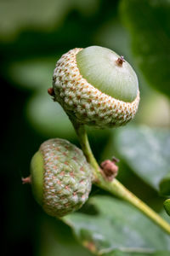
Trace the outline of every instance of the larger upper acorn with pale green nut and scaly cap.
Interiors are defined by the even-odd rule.
[[[139,106],[133,68],[111,49],[71,49],[56,64],[54,101],[73,118],[99,128],[125,125]]]

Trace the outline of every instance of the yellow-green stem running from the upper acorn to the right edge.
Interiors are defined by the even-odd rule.
[[[105,179],[88,143],[88,136],[84,125],[77,124],[77,122],[72,119],[71,121],[77,132],[77,137],[79,138],[79,142],[82,146],[82,151],[88,162],[94,167],[94,183],[100,188],[109,191],[111,194],[130,202],[134,207],[137,207],[141,212],[148,216],[154,223],[159,225],[162,230],[165,230],[170,234],[170,224],[148,207],[143,201],[139,200],[137,196],[133,195],[133,193],[122,185],[122,183],[120,183],[116,178],[111,182]]]

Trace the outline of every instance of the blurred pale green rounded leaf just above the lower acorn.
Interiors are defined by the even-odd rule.
[[[32,127],[46,137],[75,138],[71,121],[58,102],[46,93],[32,96],[27,102],[26,115]]]

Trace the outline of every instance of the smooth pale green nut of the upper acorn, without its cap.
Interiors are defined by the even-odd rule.
[[[77,67],[95,88],[117,100],[133,102],[139,90],[136,73],[127,61],[118,65],[118,58],[111,49],[91,46],[78,52]]]

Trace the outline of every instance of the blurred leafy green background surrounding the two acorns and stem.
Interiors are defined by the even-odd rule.
[[[161,195],[169,195],[170,182],[169,17],[168,0],[0,0],[4,255],[23,254],[24,248],[25,255],[88,256],[92,253],[78,244],[84,239],[86,247],[103,250],[102,255],[132,255],[130,247],[133,256],[147,255],[145,248],[154,249],[150,255],[169,254],[161,230],[101,189],[93,188],[97,196],[85,206],[88,211],[65,218],[68,227],[46,217],[31,189],[20,182],[44,140],[64,137],[78,144],[69,119],[47,90],[60,55],[97,44],[132,64],[141,100],[132,126],[88,128],[94,154],[97,160],[119,157],[118,179],[151,207],[163,209]]]

